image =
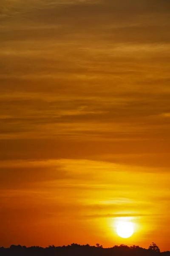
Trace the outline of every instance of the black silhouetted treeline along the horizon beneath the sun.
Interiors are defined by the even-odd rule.
[[[55,247],[49,245],[46,248],[40,246],[11,245],[9,248],[0,247],[0,256],[170,256],[170,251],[160,252],[159,247],[152,243],[148,249],[133,245],[121,244],[111,248],[103,248],[102,245],[90,246],[89,244],[71,244]]]

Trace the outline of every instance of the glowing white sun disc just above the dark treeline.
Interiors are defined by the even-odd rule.
[[[133,223],[122,221],[119,222],[117,226],[117,233],[122,238],[128,238],[133,235],[134,229],[133,229]]]

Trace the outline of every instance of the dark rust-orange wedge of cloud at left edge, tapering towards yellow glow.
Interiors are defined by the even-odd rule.
[[[68,179],[69,174],[51,161],[3,161],[0,166],[2,189],[37,188],[42,182]]]

